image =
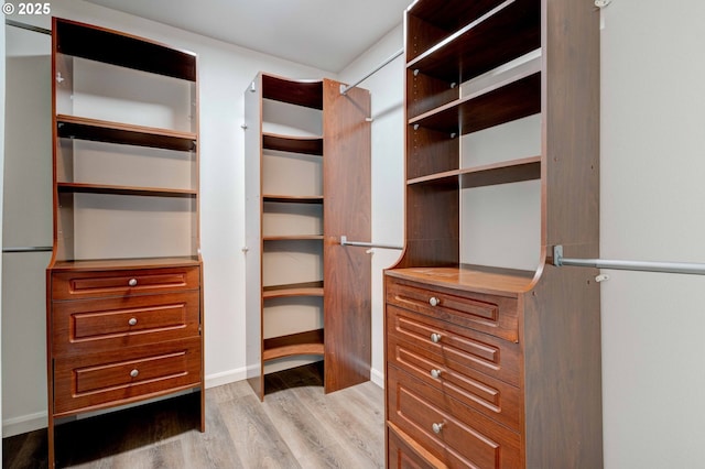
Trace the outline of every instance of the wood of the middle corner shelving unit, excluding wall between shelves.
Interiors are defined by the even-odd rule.
[[[258,239],[250,242],[259,243],[260,268],[257,272],[250,271],[248,277],[258,275],[261,285],[263,252],[294,250],[301,240],[323,241],[323,279],[319,282],[261,287],[259,310],[252,306],[248,308],[248,381],[262,400],[265,394],[264,366],[281,358],[323,356],[325,392],[368,381],[370,377],[370,258],[364,249],[341,247],[339,242],[343,236],[369,241],[371,234],[370,96],[361,88],[352,88],[341,95],[341,85],[329,79],[307,81],[259,74],[253,86],[245,91],[248,129],[259,129],[259,133],[246,134],[247,157],[251,160],[248,171],[251,171],[249,174],[253,179],[260,179],[258,194],[261,198],[259,207],[251,204],[249,212],[259,211],[248,221],[250,225],[259,222]],[[323,135],[295,138],[262,133],[262,123],[268,118],[262,116],[264,99],[321,109]],[[263,150],[322,155],[323,195],[261,194],[262,182],[267,177],[262,173]],[[254,192],[250,197],[251,200],[257,198]],[[262,236],[263,212],[291,212],[296,209],[295,204],[321,206],[323,233],[280,236],[268,232]],[[262,320],[265,302],[289,297],[318,297],[318,302],[323,297],[324,329],[263,339],[267,336]]]

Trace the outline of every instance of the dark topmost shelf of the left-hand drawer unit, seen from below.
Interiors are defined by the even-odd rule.
[[[54,19],[56,52],[196,81],[196,55],[138,36]]]

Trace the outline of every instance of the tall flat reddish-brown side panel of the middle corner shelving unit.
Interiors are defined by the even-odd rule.
[[[370,95],[324,80],[325,390],[370,378],[371,260],[340,237],[371,241]]]

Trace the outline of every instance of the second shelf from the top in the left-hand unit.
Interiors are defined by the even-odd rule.
[[[170,129],[132,126],[67,114],[57,114],[56,126],[59,138],[152,146],[184,152],[194,151],[197,141],[194,132],[180,132]]]

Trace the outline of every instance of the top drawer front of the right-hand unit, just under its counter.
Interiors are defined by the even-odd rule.
[[[456,292],[386,277],[387,303],[517,342],[517,298]]]

